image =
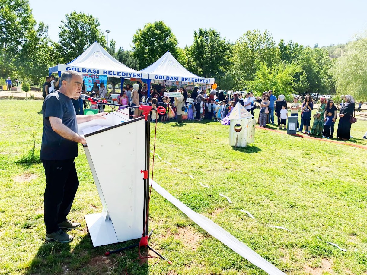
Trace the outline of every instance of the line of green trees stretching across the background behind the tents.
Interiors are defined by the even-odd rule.
[[[163,21],[146,23],[132,37],[132,49],[116,48],[99,28],[98,18],[70,12],[59,26],[59,41],[48,36],[48,26],[37,23],[28,0],[0,0],[0,78],[8,76],[41,83],[48,67],[66,63],[98,41],[117,60],[144,69],[167,50],[191,72],[214,77],[219,89],[275,94],[352,94],[367,100],[367,35],[347,44],[304,46],[294,41],[276,43],[268,31],[248,30],[231,43],[215,29],[193,32],[193,44],[178,47]],[[109,78],[115,86],[118,79]]]

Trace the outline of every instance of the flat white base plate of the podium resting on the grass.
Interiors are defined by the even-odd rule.
[[[101,213],[85,215],[84,218],[94,247],[119,242],[112,221],[106,221]]]

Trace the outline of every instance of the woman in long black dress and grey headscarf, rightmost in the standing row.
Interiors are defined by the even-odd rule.
[[[352,123],[350,123],[350,117],[353,116],[356,103],[351,95],[346,95],[344,100],[345,102],[339,111],[337,138],[348,140],[350,139],[350,126],[352,126]]]

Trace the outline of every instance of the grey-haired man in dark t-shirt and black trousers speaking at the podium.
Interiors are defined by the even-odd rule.
[[[73,237],[61,228],[73,230],[80,223],[69,221],[69,214],[79,186],[74,158],[78,156],[78,143],[86,144],[77,132],[77,124],[95,119],[95,115],[76,115],[72,98],[79,98],[83,76],[74,71],[62,74],[58,92],[46,96],[42,105],[43,134],[40,158],[46,175],[44,193],[44,221],[46,240],[62,243]]]

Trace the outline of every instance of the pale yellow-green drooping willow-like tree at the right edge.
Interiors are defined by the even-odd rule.
[[[357,100],[367,100],[367,32],[346,45],[331,73],[337,94],[350,94]]]

